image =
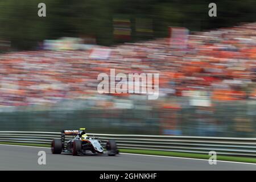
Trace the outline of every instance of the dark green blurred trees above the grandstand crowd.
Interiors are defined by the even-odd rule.
[[[31,49],[44,39],[91,35],[97,43],[110,46],[113,17],[129,16],[131,41],[144,39],[134,34],[136,18],[152,19],[155,37],[168,35],[168,26],[183,26],[192,31],[254,22],[255,0],[216,0],[217,17],[208,16],[209,0],[44,0],[46,17],[38,16],[39,0],[0,1],[0,40],[13,48]]]

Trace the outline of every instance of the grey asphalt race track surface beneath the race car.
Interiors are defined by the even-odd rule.
[[[46,165],[38,164],[38,152],[46,151]],[[50,148],[0,144],[0,170],[256,170],[256,164],[120,154],[53,155]]]

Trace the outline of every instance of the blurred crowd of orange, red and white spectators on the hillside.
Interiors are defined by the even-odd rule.
[[[93,58],[92,50],[40,50],[2,54],[1,107],[55,105],[65,100],[93,99],[97,109],[133,109],[130,102],[122,102],[134,100],[134,94],[98,94],[97,85],[100,81],[97,76],[100,73],[109,75],[111,68],[115,68],[115,74],[159,73],[159,99],[144,106],[141,102],[143,107],[186,107],[172,102],[172,97],[197,98],[199,103],[193,105],[199,107],[201,100],[205,99],[228,103],[255,101],[256,98],[256,23],[193,32],[188,35],[186,49],[171,48],[168,38],[94,48],[102,51],[108,49],[110,53],[104,59]],[[110,97],[111,100],[107,99]],[[141,95],[135,98],[141,100],[144,97]],[[201,106],[213,106],[213,102],[207,103],[203,102]],[[255,106],[249,108],[250,113],[255,113]],[[153,107],[150,108],[152,110]],[[243,120],[247,111],[234,119],[252,122],[251,119],[255,117]],[[166,117],[166,113],[171,116]],[[160,115],[161,125],[176,130],[177,115],[170,110],[166,113]],[[206,121],[208,118],[199,119]],[[241,130],[241,124],[237,127],[245,131]],[[248,125],[247,131],[255,130]]]

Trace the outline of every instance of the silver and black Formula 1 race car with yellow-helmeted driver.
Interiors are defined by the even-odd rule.
[[[65,142],[67,135],[72,135],[73,137]],[[51,150],[52,154],[108,154],[109,156],[119,154],[115,140],[108,140],[104,144],[98,138],[88,137],[84,128],[80,130],[63,130],[61,139],[52,140]]]

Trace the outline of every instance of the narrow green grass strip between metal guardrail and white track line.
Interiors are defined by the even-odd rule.
[[[0,142],[0,144],[15,144],[20,146],[36,146],[36,147],[50,147],[50,144],[36,144],[36,143],[13,143],[13,142]],[[138,149],[119,149],[120,152],[130,154],[146,154],[146,155],[162,155],[162,156],[174,156],[180,158],[195,158],[195,159],[209,159],[209,155],[205,154],[193,154],[187,152],[170,152],[170,151],[156,151],[156,150],[138,150]],[[256,163],[256,158],[248,158],[241,156],[225,156],[217,155],[217,160],[225,160],[231,162],[244,162],[244,163]]]

